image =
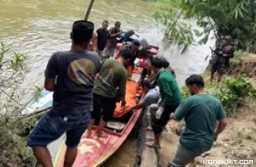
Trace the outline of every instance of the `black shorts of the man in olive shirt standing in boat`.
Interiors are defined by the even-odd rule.
[[[99,122],[102,113],[102,119],[104,122],[111,120],[115,111],[115,103],[115,98],[109,98],[93,93],[92,119]]]

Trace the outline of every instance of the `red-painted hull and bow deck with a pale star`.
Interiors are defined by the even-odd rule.
[[[136,84],[137,85],[137,84]],[[138,85],[137,85],[138,87]],[[137,88],[133,88],[137,89]],[[141,98],[142,100],[142,98]],[[126,140],[127,136],[130,134],[134,125],[137,122],[137,119],[140,117],[142,112],[138,110],[134,112],[127,122],[125,128],[122,133],[115,133],[112,130],[104,129],[104,133],[108,134],[107,138],[101,138],[95,135],[96,127],[93,127],[92,136],[90,138],[86,138],[86,133],[82,135],[82,138],[78,147],[78,154],[75,159],[74,167],[97,167],[101,166],[105,161],[108,160],[119,149],[119,147]],[[65,144],[60,147],[60,153],[58,158],[56,159],[56,163],[54,166],[62,167],[64,164],[64,154],[66,152],[67,147]]]

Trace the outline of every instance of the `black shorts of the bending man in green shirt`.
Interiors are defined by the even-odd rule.
[[[166,106],[163,114],[159,119],[155,118],[155,114],[152,116],[152,130],[154,133],[162,133],[164,127],[170,120],[170,114],[175,112],[178,105]]]

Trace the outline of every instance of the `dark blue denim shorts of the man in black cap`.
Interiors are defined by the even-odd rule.
[[[48,111],[35,125],[28,137],[29,147],[46,147],[49,143],[57,140],[66,133],[66,145],[75,148],[79,145],[82,134],[90,123],[90,113],[65,114],[60,116],[53,110]],[[65,120],[67,118],[67,120]]]

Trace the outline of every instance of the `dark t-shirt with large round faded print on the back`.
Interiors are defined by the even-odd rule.
[[[82,107],[83,112],[92,111],[93,82],[100,68],[101,60],[95,52],[70,50],[53,53],[45,71],[46,78],[56,79],[53,110],[64,112],[65,108],[72,107],[69,109],[74,111],[75,107]]]

